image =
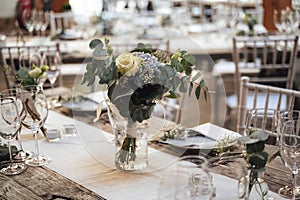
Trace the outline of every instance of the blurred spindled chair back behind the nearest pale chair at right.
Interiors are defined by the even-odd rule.
[[[239,97],[240,79],[292,89],[299,36],[237,36],[233,38],[235,92]]]

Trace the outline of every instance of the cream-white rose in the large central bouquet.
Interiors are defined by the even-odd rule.
[[[118,71],[126,76],[134,76],[141,64],[141,59],[134,56],[132,53],[123,53],[116,59]]]

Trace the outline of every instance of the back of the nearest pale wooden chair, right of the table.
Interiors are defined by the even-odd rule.
[[[273,98],[276,94],[277,98]],[[251,99],[249,99],[249,96]],[[263,108],[275,110],[293,110],[295,99],[300,98],[300,91],[251,83],[249,77],[241,78],[240,98],[238,105],[237,132],[242,134],[245,130],[247,110]]]

